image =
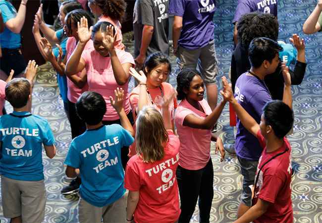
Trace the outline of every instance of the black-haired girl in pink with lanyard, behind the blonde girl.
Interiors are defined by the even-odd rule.
[[[162,114],[162,102],[164,98],[169,97],[175,90],[173,87],[164,82],[170,75],[171,63],[169,56],[162,53],[154,53],[150,55],[144,63],[143,71],[140,74],[135,69],[131,69],[131,74],[140,83],[132,90],[130,94],[130,104],[134,119],[143,106],[148,105],[154,107]],[[174,110],[177,108],[178,102],[175,98],[169,104],[170,118],[172,122],[172,130],[175,134],[173,123]],[[136,129],[135,125],[133,126]],[[136,141],[130,146],[129,157],[136,154]]]

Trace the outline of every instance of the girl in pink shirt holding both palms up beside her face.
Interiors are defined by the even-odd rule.
[[[93,31],[92,31],[93,30]],[[100,93],[106,101],[107,112],[103,117],[103,124],[121,124],[117,112],[110,104],[109,96],[114,95],[116,88],[124,90],[123,108],[129,120],[134,124],[133,114],[129,102],[128,80],[130,67],[134,67],[131,54],[114,48],[116,35],[114,27],[108,22],[99,22],[88,29],[86,18],[78,24],[79,43],[66,64],[66,75],[87,71],[84,78],[87,80],[90,91]],[[84,48],[90,39],[93,39],[94,49]],[[83,52],[84,51],[84,52]],[[128,148],[121,150],[122,165],[125,169],[128,161]]]

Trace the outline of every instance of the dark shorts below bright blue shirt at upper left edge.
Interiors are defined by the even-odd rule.
[[[11,69],[14,70],[13,76],[17,76],[25,71],[27,63],[19,53],[20,48],[6,49],[3,48],[2,57],[0,58],[0,69],[9,76]]]

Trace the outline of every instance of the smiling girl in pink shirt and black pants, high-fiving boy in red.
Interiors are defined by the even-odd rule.
[[[204,80],[196,69],[183,69],[177,76],[175,125],[180,139],[180,160],[176,171],[180,199],[180,223],[189,223],[199,196],[200,222],[209,223],[214,196],[214,168],[210,157],[211,141],[225,156],[222,140],[211,132],[226,102],[211,110],[204,99]]]

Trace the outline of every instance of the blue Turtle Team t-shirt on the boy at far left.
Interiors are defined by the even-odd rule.
[[[13,111],[0,116],[0,173],[7,178],[44,179],[42,143],[53,145],[54,134],[47,119],[30,114]]]

